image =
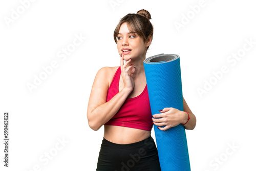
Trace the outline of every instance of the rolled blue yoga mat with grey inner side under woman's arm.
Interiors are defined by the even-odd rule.
[[[179,55],[159,54],[146,58],[144,69],[152,115],[164,108],[183,111]],[[166,131],[157,127],[154,125],[161,170],[190,170],[184,126],[179,124]]]

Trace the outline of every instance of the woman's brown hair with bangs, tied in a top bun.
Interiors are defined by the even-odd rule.
[[[130,32],[136,32],[140,37],[143,38],[146,43],[149,36],[152,36],[153,39],[153,25],[150,22],[151,15],[148,11],[142,9],[139,10],[136,14],[127,14],[120,19],[120,22],[116,26],[114,31],[114,40],[117,44],[117,35],[120,30],[120,27],[123,23],[127,23],[127,27]],[[146,50],[149,46],[146,48]]]

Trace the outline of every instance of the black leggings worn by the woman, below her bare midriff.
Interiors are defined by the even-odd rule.
[[[97,171],[161,171],[154,139],[116,144],[103,138]]]

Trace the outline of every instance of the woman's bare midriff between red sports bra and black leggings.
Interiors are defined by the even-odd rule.
[[[104,138],[116,144],[131,144],[150,137],[151,131],[131,127],[104,125]]]

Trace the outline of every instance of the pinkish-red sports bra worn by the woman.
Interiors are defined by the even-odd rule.
[[[111,100],[119,92],[119,79],[121,69],[117,69],[108,90],[106,101]],[[148,99],[147,86],[143,92],[133,98],[127,98],[119,111],[105,125],[132,127],[135,129],[151,131],[153,122]]]

